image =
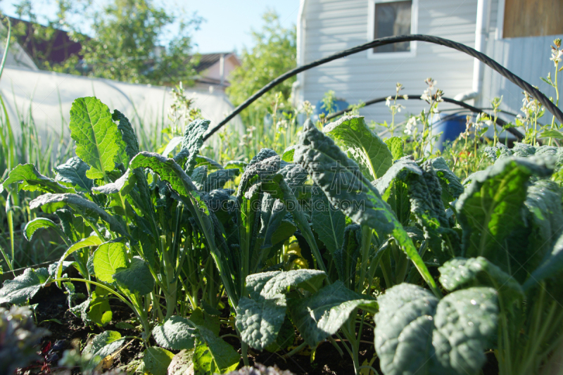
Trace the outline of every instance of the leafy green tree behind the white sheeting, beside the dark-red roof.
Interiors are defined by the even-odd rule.
[[[177,9],[172,13],[156,6],[153,0],[112,0],[101,11],[93,11],[90,0],[58,0],[58,4],[57,19],[43,28],[64,25],[82,44],[82,50],[63,64],[50,66],[52,70],[132,83],[192,82],[196,58],[191,56],[190,35],[201,23],[197,15],[189,17]],[[79,4],[82,15],[70,23],[66,15],[76,15]],[[29,0],[23,0],[20,9],[32,23],[37,22]],[[89,18],[93,19],[91,24]],[[92,35],[82,32],[86,23]],[[175,37],[163,45],[167,27],[173,24],[177,25]],[[39,66],[43,68],[45,64]]]

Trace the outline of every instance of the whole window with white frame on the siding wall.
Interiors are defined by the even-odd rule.
[[[416,34],[418,0],[368,0],[367,40]],[[417,42],[387,44],[370,49],[368,58],[415,56]]]

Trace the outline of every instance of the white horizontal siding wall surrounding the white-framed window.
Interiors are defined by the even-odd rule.
[[[430,34],[474,46],[477,0],[419,0],[418,34]],[[367,40],[368,0],[306,0],[304,63],[310,63]],[[348,103],[394,94],[422,94],[424,79],[432,77],[445,96],[472,89],[473,58],[436,44],[417,42],[416,56],[408,59],[368,59],[367,52],[332,61],[301,77],[302,98],[315,104],[326,91]],[[418,113],[421,101],[407,101],[407,111]],[[443,106],[445,108],[446,106]],[[389,120],[384,103],[362,111],[368,120]],[[399,117],[400,120],[403,118]]]

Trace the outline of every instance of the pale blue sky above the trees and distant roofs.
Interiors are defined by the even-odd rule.
[[[108,0],[94,0],[95,6],[102,6]],[[295,25],[300,0],[156,0],[156,4],[168,9],[184,8],[188,13],[197,12],[205,19],[200,30],[194,32],[196,51],[201,53],[236,51],[243,46],[251,47],[251,29],[262,26],[260,16],[268,8],[280,15],[281,25]],[[301,0],[302,1],[302,0]],[[13,4],[18,0],[0,1],[0,10],[15,16]],[[32,0],[34,10],[39,16],[52,17],[55,13],[55,1]],[[41,18],[39,18],[41,21]]]

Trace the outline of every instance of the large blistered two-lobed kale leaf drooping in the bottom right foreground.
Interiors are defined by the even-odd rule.
[[[412,284],[378,298],[375,350],[386,375],[476,374],[497,331],[493,288],[455,291],[438,300]],[[391,323],[392,322],[392,323]]]

